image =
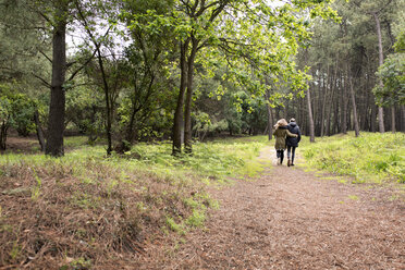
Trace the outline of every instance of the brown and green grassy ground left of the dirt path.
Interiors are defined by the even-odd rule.
[[[148,242],[204,224],[207,208],[218,207],[208,185],[258,173],[266,140],[196,144],[180,158],[165,143],[106,158],[84,142],[68,139],[60,159],[0,156],[0,267],[136,267]]]

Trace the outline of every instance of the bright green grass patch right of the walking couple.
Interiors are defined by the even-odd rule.
[[[300,146],[308,165],[341,175],[354,183],[405,183],[405,134],[361,133],[335,135]]]

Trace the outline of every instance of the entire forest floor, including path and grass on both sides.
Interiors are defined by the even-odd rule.
[[[376,146],[359,175],[309,165],[307,137],[294,168],[275,164],[265,136],[182,160],[168,145],[106,160],[81,138],[61,159],[0,156],[1,269],[403,269],[405,165],[392,156],[404,135],[364,135]]]

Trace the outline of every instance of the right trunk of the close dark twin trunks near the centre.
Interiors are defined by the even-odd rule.
[[[184,108],[184,151],[193,152],[192,138],[192,103],[193,103],[193,77],[194,77],[194,61],[197,54],[198,40],[192,37],[192,51],[187,61],[187,93]]]

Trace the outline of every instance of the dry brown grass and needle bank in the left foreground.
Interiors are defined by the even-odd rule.
[[[151,172],[122,176],[95,162],[86,177],[75,170],[52,162],[1,168],[0,268],[136,265],[145,241],[163,234],[168,216],[187,217],[184,199],[201,188]]]

